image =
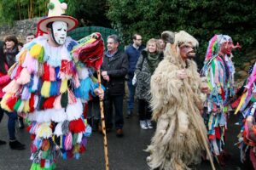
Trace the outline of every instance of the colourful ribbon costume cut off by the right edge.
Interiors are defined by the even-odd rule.
[[[241,162],[246,161],[249,157],[256,169],[256,64],[253,65],[253,70],[250,71],[244,88],[244,93],[241,95],[236,109],[236,113],[241,111],[244,118],[239,135]]]

